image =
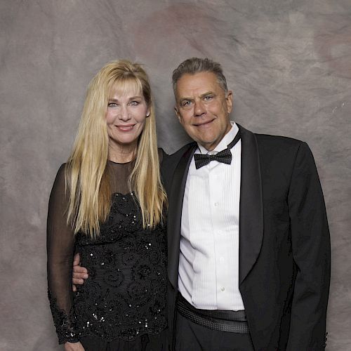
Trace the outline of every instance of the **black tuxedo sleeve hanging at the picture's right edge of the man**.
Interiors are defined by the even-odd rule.
[[[297,275],[286,350],[324,350],[330,283],[330,237],[312,152],[301,143],[288,194]]]

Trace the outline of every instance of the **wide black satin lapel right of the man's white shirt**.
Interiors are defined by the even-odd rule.
[[[241,126],[239,130],[241,133],[239,284],[241,284],[260,253],[263,241],[263,200],[256,136]]]

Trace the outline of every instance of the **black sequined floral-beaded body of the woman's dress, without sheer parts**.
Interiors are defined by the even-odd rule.
[[[100,237],[77,235],[89,278],[74,296],[79,336],[133,340],[166,328],[166,233],[144,230],[135,196],[113,194]]]

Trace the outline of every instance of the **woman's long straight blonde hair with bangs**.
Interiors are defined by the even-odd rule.
[[[159,173],[154,101],[149,79],[138,63],[117,60],[102,67],[88,86],[76,140],[67,161],[67,221],[71,223],[74,234],[85,232],[91,237],[98,236],[99,223],[110,213],[109,137],[105,116],[112,88],[120,85],[125,88],[128,84],[140,88],[150,111],[138,140],[135,166],[128,183],[138,198],[143,227],[152,228],[162,221],[166,193]]]

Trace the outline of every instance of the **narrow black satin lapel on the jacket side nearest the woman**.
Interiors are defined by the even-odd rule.
[[[171,193],[168,195],[168,279],[175,289],[178,289],[180,224],[182,220],[185,184],[190,161],[196,149],[197,143],[192,143],[190,148],[180,158],[171,183]]]

